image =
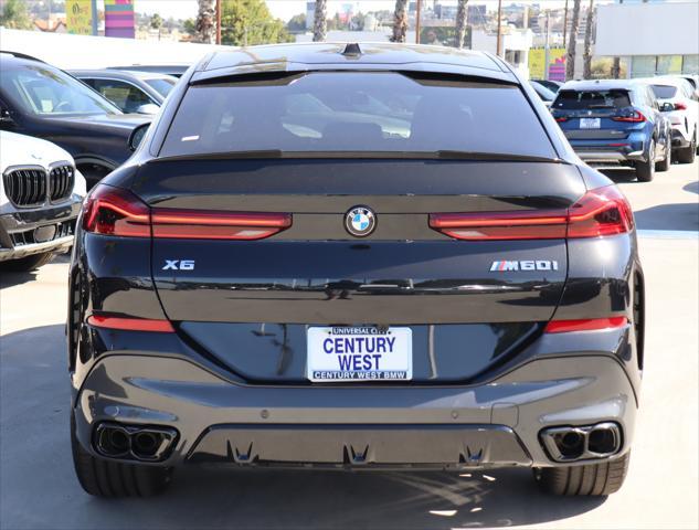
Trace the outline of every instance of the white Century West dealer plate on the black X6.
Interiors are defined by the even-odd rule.
[[[315,382],[409,381],[413,330],[377,327],[308,328],[306,374]]]

